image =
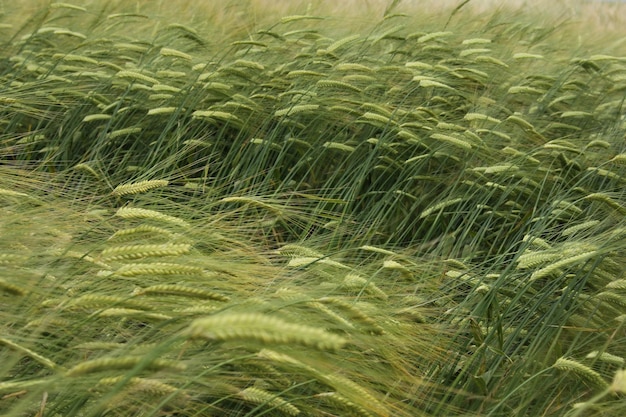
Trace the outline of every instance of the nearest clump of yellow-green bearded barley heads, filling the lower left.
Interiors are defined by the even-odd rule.
[[[381,259],[268,251],[163,180],[96,204],[2,173],[3,415],[413,416],[436,392],[450,334]]]

